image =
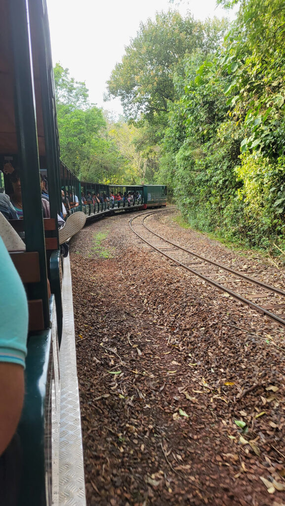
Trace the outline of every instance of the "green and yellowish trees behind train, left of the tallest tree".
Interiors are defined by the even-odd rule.
[[[79,179],[105,184],[150,181],[157,157],[155,147],[141,145],[145,130],[124,118],[115,121],[91,104],[85,83],[75,81],[59,63],[54,81],[60,156]]]

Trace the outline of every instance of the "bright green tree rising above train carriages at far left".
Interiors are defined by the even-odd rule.
[[[82,180],[117,182],[122,160],[102,109],[90,104],[85,83],[59,63],[54,76],[62,160]]]

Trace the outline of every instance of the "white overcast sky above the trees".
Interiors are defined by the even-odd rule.
[[[47,0],[53,63],[68,68],[70,76],[85,81],[91,102],[122,112],[119,100],[103,102],[106,80],[124,47],[135,37],[140,21],[154,19],[158,11],[173,8],[168,0]],[[216,7],[216,0],[184,0],[181,14],[190,10],[195,19],[233,18]]]

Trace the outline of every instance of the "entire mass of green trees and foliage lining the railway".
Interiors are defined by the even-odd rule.
[[[119,121],[57,65],[62,158],[83,179],[167,184],[196,229],[268,248],[285,242],[285,3],[217,3],[233,23],[140,24],[108,81]]]

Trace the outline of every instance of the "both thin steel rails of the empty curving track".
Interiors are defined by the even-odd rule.
[[[160,209],[161,210],[166,210],[166,209]],[[168,242],[169,244],[172,244],[173,246],[177,247],[177,249],[183,249],[187,252],[189,252],[191,255],[193,256],[197,256],[199,258],[202,258],[203,260],[206,260],[207,262],[209,263],[212,263],[213,265],[215,265],[215,262],[212,262],[212,261],[208,261],[207,259],[204,259],[203,257],[200,257],[199,255],[196,255],[195,253],[193,253],[192,251],[190,250],[187,250],[185,248],[183,248],[182,246],[179,246],[177,244],[175,244],[174,242],[171,242],[169,241],[168,239],[165,239],[164,237],[160,236],[159,234],[156,234],[155,232],[153,232],[151,229],[149,229],[145,224],[144,224],[144,220],[146,218],[148,218],[148,216],[152,215],[152,214],[155,214],[155,213],[158,213],[158,211],[154,211],[152,213],[148,213],[147,215],[144,216],[144,218],[142,219],[141,223],[139,225],[145,227],[147,230],[149,230],[149,232],[151,232],[152,234],[154,234],[155,236],[159,237],[160,239],[162,239],[163,241],[165,242]],[[191,272],[192,274],[195,274],[196,276],[200,277],[201,279],[203,279],[203,281],[206,281],[207,283],[211,284],[212,286],[215,286],[216,288],[218,288],[219,290],[221,291],[224,291],[226,293],[229,293],[231,297],[233,297],[233,299],[239,301],[239,302],[242,302],[243,304],[246,304],[247,306],[250,306],[252,307],[253,309],[255,309],[258,313],[262,313],[262,314],[266,314],[267,316],[269,316],[270,318],[272,318],[273,320],[275,321],[278,321],[278,323],[281,323],[281,325],[284,325],[285,326],[285,320],[283,318],[280,318],[278,315],[274,314],[274,313],[271,313],[271,311],[268,311],[267,309],[264,309],[262,308],[261,306],[258,306],[258,304],[255,304],[254,302],[252,301],[249,301],[248,299],[245,299],[244,297],[242,297],[241,295],[239,295],[239,293],[236,293],[232,290],[230,290],[229,288],[226,288],[224,287],[223,285],[221,285],[220,283],[217,283],[217,281],[213,281],[212,279],[204,276],[203,274],[201,274],[200,272],[198,271],[195,271],[195,269],[191,269],[190,267],[188,267],[187,265],[183,264],[182,262],[180,262],[179,260],[176,260],[174,259],[173,257],[170,257],[170,255],[167,255],[164,251],[161,251],[158,247],[154,246],[151,242],[147,241],[144,237],[142,237],[141,235],[139,235],[132,227],[132,222],[133,220],[135,220],[136,218],[142,218],[141,215],[138,215],[138,216],[134,216],[133,218],[131,218],[129,220],[129,225],[130,225],[130,228],[131,230],[133,231],[133,233],[139,237],[140,239],[142,239],[144,242],[146,242],[149,246],[151,246],[153,249],[155,249],[156,251],[158,251],[161,255],[163,255],[164,257],[168,258],[169,260],[171,260],[172,262],[175,262],[175,264],[183,267],[183,269]],[[221,267],[222,269],[224,269],[224,266],[220,265],[220,264],[216,264],[217,266]],[[255,279],[253,278],[250,278],[250,277],[247,277],[243,274],[239,275],[239,273],[235,273],[235,271],[231,271],[230,269],[228,268],[225,268],[225,270],[229,270],[229,272],[232,272],[234,273],[235,275],[238,275],[242,278],[244,278],[245,280],[249,280],[250,282],[254,283],[254,284],[257,284],[257,285],[260,285],[261,286],[264,286],[266,287],[267,289],[270,289],[270,291],[277,291],[277,293],[281,293],[282,295],[285,296],[285,292],[283,292],[282,290],[279,290],[278,288],[275,289],[274,287],[271,287],[270,285],[265,285],[263,283],[261,283],[260,281],[257,282]]]

